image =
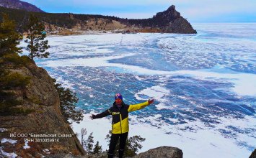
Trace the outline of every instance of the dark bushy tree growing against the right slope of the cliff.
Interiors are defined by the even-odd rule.
[[[79,98],[76,97],[76,93],[72,92],[69,88],[61,87],[60,83],[56,83],[56,79],[53,79],[55,83],[55,88],[58,92],[58,96],[61,101],[61,112],[63,116],[68,121],[75,121],[79,123],[84,116],[83,111],[79,108],[76,108],[76,103],[79,101]]]

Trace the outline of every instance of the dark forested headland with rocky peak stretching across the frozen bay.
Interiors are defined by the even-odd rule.
[[[36,9],[29,9],[32,4],[17,3],[18,0],[0,0],[0,13],[9,14],[17,23],[17,30],[26,33],[24,26],[28,22],[29,14],[34,14],[45,24],[48,34],[83,34],[84,32],[96,33],[177,33],[196,34],[190,22],[181,16],[175,6],[169,6],[165,11],[156,13],[148,19],[127,19],[114,16],[102,16],[97,14],[53,14]],[[1,19],[1,17],[0,17]]]

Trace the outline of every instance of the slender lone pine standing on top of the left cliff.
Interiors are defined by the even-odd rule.
[[[39,22],[37,17],[30,14],[30,19],[25,27],[27,31],[27,40],[25,42],[27,45],[27,51],[30,51],[29,57],[34,60],[34,57],[48,57],[49,52],[45,52],[50,46],[48,45],[48,40],[45,40],[45,26],[43,23]]]

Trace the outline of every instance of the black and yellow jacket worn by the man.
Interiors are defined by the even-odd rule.
[[[119,109],[114,102],[113,106],[106,111],[97,115],[92,115],[92,119],[99,119],[112,115],[112,134],[123,134],[129,131],[128,113],[131,111],[140,110],[146,106],[149,106],[149,101],[135,105],[127,105],[122,102],[122,106]]]

